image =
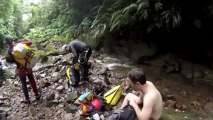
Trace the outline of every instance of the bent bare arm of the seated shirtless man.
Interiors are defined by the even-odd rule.
[[[135,109],[139,120],[149,120],[151,118],[153,104],[152,97],[146,96],[143,100],[143,108],[141,110],[134,100],[130,101],[130,105]]]

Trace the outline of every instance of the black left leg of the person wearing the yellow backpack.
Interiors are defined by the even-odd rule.
[[[19,75],[21,85],[22,85],[22,90],[25,96],[26,102],[30,101],[29,94],[28,94],[28,89],[27,89],[27,82],[26,82],[26,75]]]

